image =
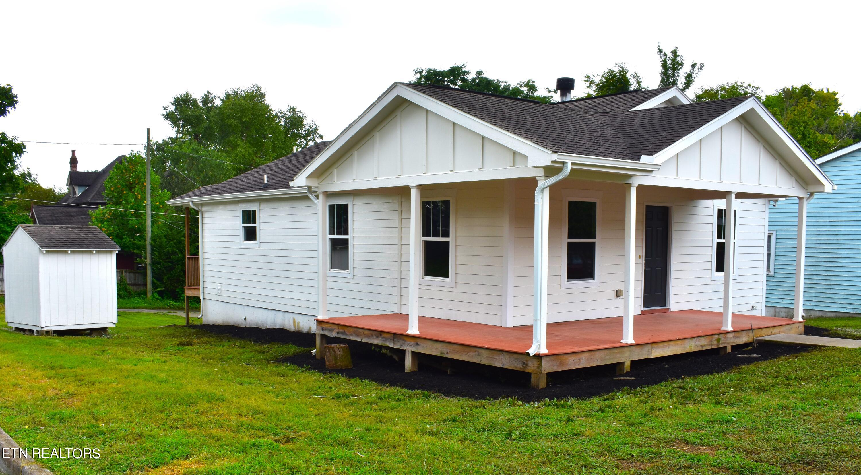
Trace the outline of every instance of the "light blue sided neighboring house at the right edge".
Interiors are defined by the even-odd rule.
[[[861,142],[816,163],[837,187],[808,203],[804,314],[861,314]],[[792,317],[797,228],[796,200],[772,202],[766,240],[767,315]]]

